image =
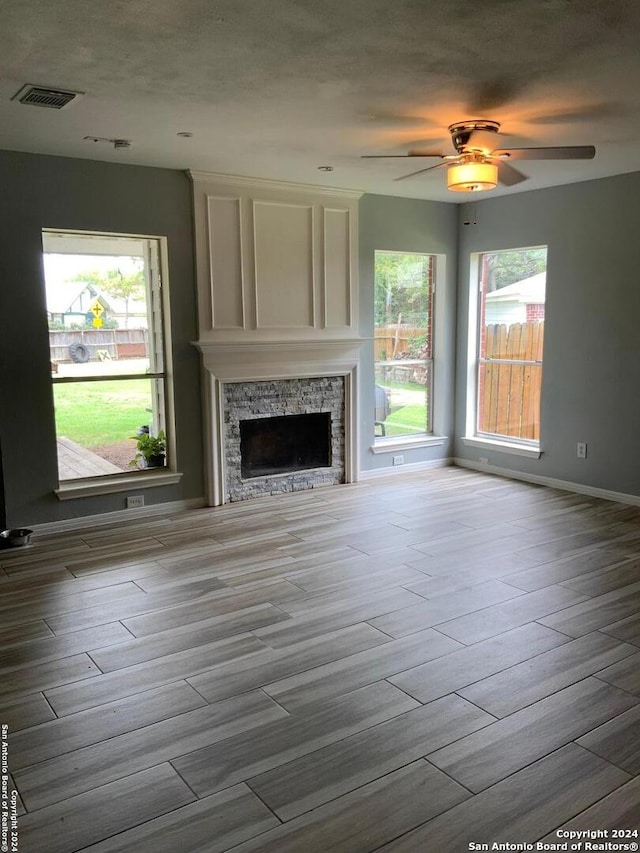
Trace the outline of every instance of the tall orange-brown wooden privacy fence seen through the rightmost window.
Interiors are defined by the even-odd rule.
[[[544,323],[484,327],[480,360],[478,432],[540,439]],[[538,363],[536,363],[538,362]]]

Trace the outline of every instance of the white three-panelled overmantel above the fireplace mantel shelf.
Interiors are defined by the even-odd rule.
[[[358,336],[360,193],[190,174],[200,340]]]

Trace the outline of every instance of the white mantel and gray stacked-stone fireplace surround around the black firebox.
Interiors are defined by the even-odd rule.
[[[357,480],[361,343],[351,338],[277,343],[200,341],[196,344],[205,369],[205,447],[208,452],[205,475],[211,506],[260,494]],[[267,385],[255,384],[263,382]],[[283,383],[285,402],[276,403],[274,408],[271,391],[278,383]],[[264,406],[255,399],[263,396],[261,391],[266,392]],[[254,397],[248,401],[248,407],[241,403],[245,394]],[[331,411],[332,467],[242,480],[239,443],[235,440],[235,427],[231,426],[239,420],[239,415],[238,412],[232,414],[231,401],[240,402],[240,414],[244,409],[253,417],[274,412]],[[229,443],[228,435],[231,437]]]

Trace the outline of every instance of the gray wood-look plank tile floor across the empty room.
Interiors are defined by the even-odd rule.
[[[640,507],[448,468],[37,535],[0,594],[21,853],[640,830]]]

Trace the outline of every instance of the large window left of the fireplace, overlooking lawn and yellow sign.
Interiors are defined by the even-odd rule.
[[[167,430],[161,241],[45,231],[43,248],[60,483],[144,478],[136,440]]]

